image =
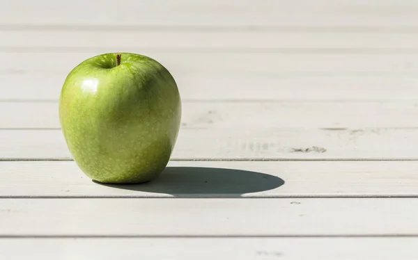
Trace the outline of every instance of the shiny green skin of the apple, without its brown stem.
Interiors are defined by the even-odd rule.
[[[117,54],[88,58],[68,74],[59,120],[86,176],[104,184],[139,184],[156,179],[169,162],[180,129],[180,94],[153,58]]]

